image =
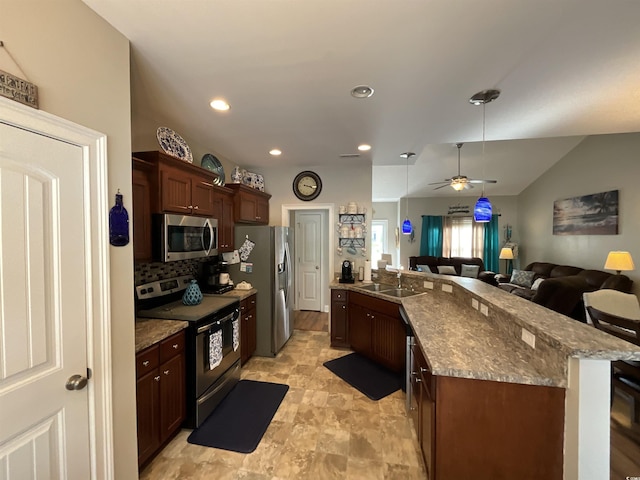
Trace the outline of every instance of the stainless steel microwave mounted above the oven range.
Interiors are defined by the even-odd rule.
[[[172,262],[218,255],[218,220],[188,215],[153,216],[153,255]]]

